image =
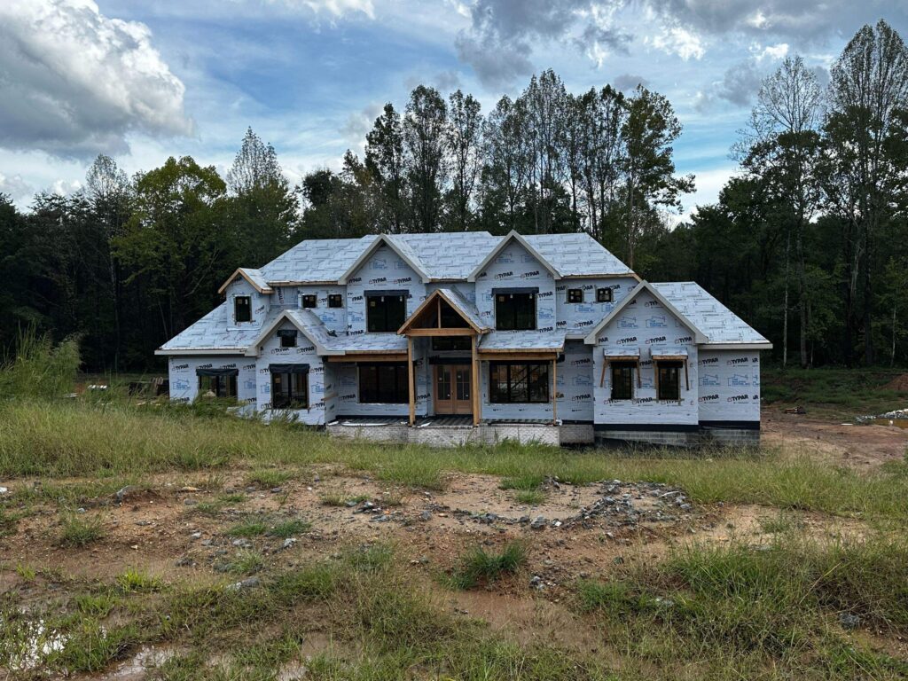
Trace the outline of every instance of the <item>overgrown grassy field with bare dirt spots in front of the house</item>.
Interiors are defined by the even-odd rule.
[[[899,399],[878,390],[880,374],[816,373],[768,378],[767,398],[829,415]],[[320,475],[339,481],[312,489]],[[487,476],[483,495],[521,512],[564,494],[552,479],[577,490],[665,483],[695,512],[646,531],[413,525],[451,479]],[[0,495],[0,676],[13,679],[118,678],[123,664],[138,675],[123,678],[173,681],[908,676],[904,461],[835,468],[785,447],[388,447],[234,419],[220,405],[32,397],[0,404],[0,484],[10,487]],[[150,500],[110,507],[126,486]],[[198,502],[171,501],[174,489]],[[416,519],[383,534],[363,522],[345,539],[337,528],[369,499]],[[168,509],[173,520],[153,527],[173,537],[151,534],[149,549],[130,553],[140,504]],[[758,530],[700,539],[750,508],[765,516]],[[186,528],[212,538],[212,558],[167,567],[202,556]],[[599,558],[531,586],[565,543],[558,556]],[[96,571],[79,569],[98,556]],[[500,620],[472,614],[486,597],[507,599]],[[452,609],[463,598],[472,605]],[[512,627],[521,607],[529,614]]]

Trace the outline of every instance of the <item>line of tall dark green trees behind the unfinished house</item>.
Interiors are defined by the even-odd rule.
[[[364,153],[291,186],[250,129],[231,170],[170,158],[132,178],[99,156],[84,190],[0,195],[0,328],[79,333],[90,370],[160,367],[153,350],[217,302],[238,266],[307,238],[379,232],[588,232],[650,281],[698,281],[784,363],[906,356],[908,51],[881,21],[834,61],[768,76],[718,202],[672,227],[694,188],[681,124],[643,86],[573,94],[557,74],[483,113],[419,85],[385,104]]]

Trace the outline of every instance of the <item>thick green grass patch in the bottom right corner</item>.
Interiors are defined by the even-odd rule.
[[[780,678],[898,678],[908,665],[856,645],[839,617],[908,630],[906,568],[903,538],[698,545],[610,581],[581,580],[577,606],[607,620],[617,632],[609,638],[642,665],[724,668],[729,678],[769,668]]]

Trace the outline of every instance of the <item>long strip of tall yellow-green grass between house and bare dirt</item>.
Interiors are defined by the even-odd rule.
[[[202,456],[202,469],[214,465],[214,459],[226,457],[224,460],[234,463],[262,467],[268,471],[264,475],[271,476],[269,484],[287,475],[273,477],[282,472],[274,467],[300,469],[334,463],[372,471],[396,485],[423,489],[442,488],[449,471],[511,479],[504,484],[513,489],[532,489],[549,476],[576,483],[651,480],[685,489],[701,504],[754,503],[867,518],[908,518],[901,466],[858,472],[807,458],[787,459],[769,449],[650,450],[640,454],[630,449],[568,451],[511,442],[449,450],[390,448],[334,439],[287,424],[266,426],[229,417],[212,422],[190,411],[155,409],[78,401],[0,404],[0,477],[101,475],[105,481],[119,484],[124,475],[173,470],[177,466],[174,457],[181,450],[192,456],[208,451],[213,458]],[[126,447],[120,437],[123,432],[130,433]],[[73,494],[72,490],[61,493]],[[325,500],[335,503],[340,498]],[[217,515],[224,506],[215,499],[192,508]]]

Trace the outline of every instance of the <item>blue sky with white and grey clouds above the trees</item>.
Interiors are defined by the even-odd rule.
[[[98,153],[226,173],[249,126],[298,183],[417,84],[488,112],[553,68],[669,98],[684,219],[735,173],[761,79],[795,54],[826,78],[881,18],[908,37],[908,0],[0,0],[0,192],[73,192]]]

